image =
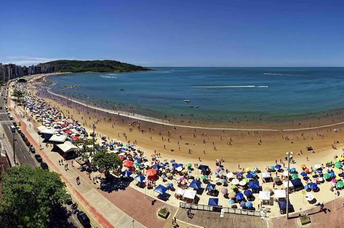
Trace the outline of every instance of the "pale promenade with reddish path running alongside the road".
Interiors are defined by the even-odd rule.
[[[58,161],[62,157],[58,153],[51,152],[52,147],[41,142],[42,149],[40,149],[40,136],[34,130],[34,125],[22,119],[23,110],[15,109],[14,115],[21,122],[21,128],[25,136],[36,148],[44,162],[49,166],[49,169],[61,174],[61,179],[67,185],[67,190],[72,198],[79,204],[80,208],[84,208],[85,212],[91,217],[92,222],[95,222],[100,227],[128,227],[132,225],[132,218],[121,211],[106,197],[102,196],[95,186],[88,180],[80,176],[80,174],[72,168],[69,163],[69,170],[65,171],[64,166],[58,165]],[[18,115],[19,114],[19,115]],[[65,164],[65,161],[64,161]],[[76,178],[80,176],[81,184],[77,185]],[[92,219],[93,218],[93,219]],[[134,221],[135,227],[145,227],[141,223]]]

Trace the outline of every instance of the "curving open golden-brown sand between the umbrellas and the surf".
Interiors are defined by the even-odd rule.
[[[233,171],[238,169],[238,164],[240,164],[240,168],[258,166],[261,169],[266,165],[274,165],[276,160],[279,164],[280,160],[283,161],[286,157],[286,151],[293,151],[294,159],[298,164],[313,165],[324,163],[333,158],[334,154],[339,157],[342,154],[341,139],[344,130],[339,130],[342,127],[341,124],[321,129],[289,132],[278,130],[334,124],[335,121],[340,121],[341,115],[337,115],[336,119],[329,116],[320,120],[306,120],[300,124],[270,123],[264,127],[271,129],[275,127],[274,129],[278,131],[259,130],[258,133],[247,130],[196,129],[137,121],[68,101],[48,93],[46,89],[36,89],[35,92],[52,106],[58,107],[64,113],[69,113],[74,119],[83,122],[89,131],[91,131],[90,123],[97,122],[95,132],[99,135],[106,135],[109,139],[116,138],[122,142],[136,142],[137,147],[144,150],[147,156],[156,152],[160,153],[163,158],[176,159],[181,163],[202,163],[214,168],[215,160],[223,158],[225,168]],[[135,124],[133,125],[133,123]],[[244,124],[240,127],[255,128],[256,126]],[[334,132],[334,128],[338,132]],[[337,150],[331,148],[334,141],[339,141],[336,144]],[[307,145],[312,145],[315,153],[306,151]],[[297,155],[300,150],[302,150],[302,155]],[[308,162],[306,161],[307,157]]]

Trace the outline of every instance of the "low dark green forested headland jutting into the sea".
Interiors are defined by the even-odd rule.
[[[55,67],[55,72],[130,72],[152,70],[115,60],[56,60],[47,62]]]

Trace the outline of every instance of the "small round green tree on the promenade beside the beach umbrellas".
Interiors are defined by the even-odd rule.
[[[104,171],[106,176],[110,175],[110,171],[122,168],[122,160],[115,154],[108,151],[99,151],[93,156],[93,165],[99,170]]]

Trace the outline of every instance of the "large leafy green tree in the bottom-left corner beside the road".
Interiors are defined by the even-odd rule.
[[[46,227],[52,208],[68,199],[60,175],[49,170],[18,166],[2,179],[0,227]]]

